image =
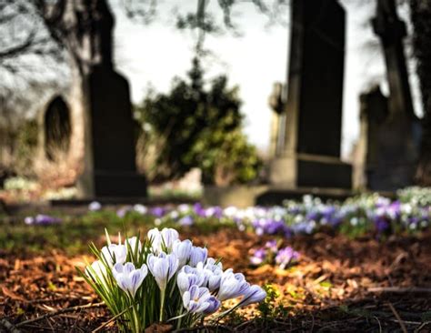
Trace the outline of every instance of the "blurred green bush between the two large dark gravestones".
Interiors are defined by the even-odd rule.
[[[262,161],[242,133],[238,88],[228,88],[226,76],[206,83],[198,58],[187,76],[176,77],[167,94],[149,93],[135,107],[143,128],[138,151],[146,158],[145,173],[162,182],[199,167],[205,184],[255,179]]]

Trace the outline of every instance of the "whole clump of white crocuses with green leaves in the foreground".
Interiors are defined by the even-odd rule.
[[[205,247],[180,240],[175,229],[151,229],[144,242],[130,237],[122,243],[119,237],[118,244],[111,244],[107,237],[101,251],[92,247],[98,260],[84,276],[125,330],[140,331],[165,320],[177,328],[192,327],[216,313],[226,299],[239,300],[215,318],[266,298],[243,274],[223,270]]]

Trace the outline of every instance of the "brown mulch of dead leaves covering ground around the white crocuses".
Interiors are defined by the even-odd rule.
[[[378,332],[431,331],[431,234],[421,237],[352,240],[344,236],[296,237],[285,245],[302,255],[298,265],[249,267],[249,249],[261,247],[270,237],[223,229],[199,236],[210,256],[222,257],[224,267],[234,267],[253,283],[270,282],[285,304],[283,318],[232,319],[218,331],[238,332]],[[104,307],[75,308],[99,300],[78,277],[88,256],[68,257],[61,251],[44,256],[22,256],[0,250],[0,332],[87,332],[109,320]],[[241,314],[253,318],[255,310]],[[55,316],[47,317],[47,314]],[[20,323],[45,316],[27,325]],[[2,319],[5,321],[2,322]],[[9,323],[11,327],[6,328]],[[115,330],[108,325],[105,330]],[[211,330],[211,329],[210,329]],[[213,329],[214,330],[214,329]]]

